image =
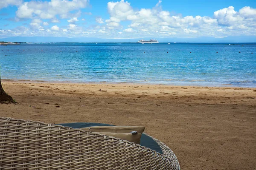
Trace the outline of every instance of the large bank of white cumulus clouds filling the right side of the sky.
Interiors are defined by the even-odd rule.
[[[161,2],[159,0],[156,7],[160,6]],[[105,20],[106,23],[130,21],[130,25],[124,29],[124,32],[134,32],[137,35],[159,34],[183,37],[207,35],[216,37],[224,34],[233,35],[234,31],[241,34],[239,29],[243,31],[242,34],[256,33],[256,9],[249,6],[245,6],[239,11],[235,11],[233,6],[223,8],[215,11],[213,17],[200,15],[182,17],[181,14],[172,15],[169,11],[155,7],[135,10],[131,3],[120,0],[109,2],[108,12],[111,17]]]

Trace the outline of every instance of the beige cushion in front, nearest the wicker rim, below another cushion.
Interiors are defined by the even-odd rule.
[[[140,144],[141,133],[131,134],[131,133],[113,133],[113,132],[99,132],[101,135],[113,136],[118,139],[126,140],[129,142],[134,142]]]

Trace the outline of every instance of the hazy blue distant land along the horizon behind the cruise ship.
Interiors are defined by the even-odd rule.
[[[92,37],[9,37],[0,38],[4,42],[136,42],[138,40],[157,39],[159,42],[190,42],[190,43],[236,43],[236,42],[256,42],[256,36],[233,36],[233,37],[174,37],[174,38],[157,38],[157,37],[140,37],[129,39],[102,39]]]

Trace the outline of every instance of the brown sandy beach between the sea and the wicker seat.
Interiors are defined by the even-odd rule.
[[[256,168],[256,88],[3,82],[0,116],[143,125],[182,170]],[[101,91],[99,91],[101,89]]]

